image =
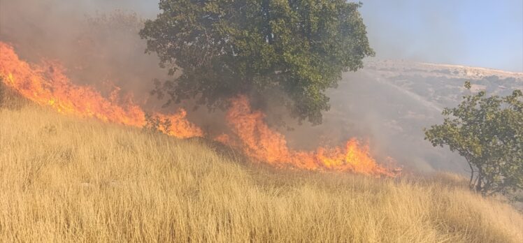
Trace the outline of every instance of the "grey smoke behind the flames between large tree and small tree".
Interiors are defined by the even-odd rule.
[[[294,126],[285,135],[291,147],[303,149],[317,146],[315,141],[332,146],[355,136],[368,142],[378,161],[391,157],[410,170],[464,172],[459,155],[424,140],[423,128],[443,120],[440,108],[407,92],[372,70],[345,73],[338,88],[328,92],[331,110],[324,113],[324,123]]]

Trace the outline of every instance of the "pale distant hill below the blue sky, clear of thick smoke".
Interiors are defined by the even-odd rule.
[[[466,91],[465,80],[472,82],[473,91],[486,90],[489,94],[507,95],[523,89],[523,73],[489,68],[390,60],[368,61],[364,72],[424,97],[435,108],[456,105]]]

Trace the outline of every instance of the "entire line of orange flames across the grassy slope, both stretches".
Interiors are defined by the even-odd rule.
[[[143,127],[146,124],[144,110],[131,99],[118,102],[120,88],[115,87],[110,97],[104,98],[92,87],[73,84],[64,72],[65,69],[55,62],[30,65],[19,59],[13,47],[0,42],[0,78],[25,98],[64,114],[94,117],[127,126]],[[201,128],[187,121],[186,115],[185,110],[173,115],[153,114],[162,121],[169,119],[171,122],[169,131],[163,131],[166,134],[176,138],[202,137]],[[227,121],[234,134],[220,135],[215,140],[242,149],[253,159],[276,167],[391,177],[397,174],[397,171],[378,165],[368,146],[360,145],[356,139],[348,140],[343,147],[320,147],[314,152],[290,149],[285,137],[264,122],[264,114],[251,110],[245,96],[231,99]]]

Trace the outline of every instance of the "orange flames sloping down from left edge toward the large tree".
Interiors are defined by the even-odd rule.
[[[47,105],[64,114],[78,117],[95,117],[101,121],[142,127],[146,124],[145,112],[132,101],[116,102],[115,89],[110,98],[104,98],[91,87],[71,83],[64,75],[65,69],[56,62],[29,65],[21,61],[13,47],[0,42],[0,77],[6,85],[22,96],[40,105]],[[185,119],[180,110],[174,115],[155,114],[172,123],[170,131],[176,138],[202,136],[200,128]]]

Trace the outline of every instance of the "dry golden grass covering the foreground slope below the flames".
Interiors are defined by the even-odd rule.
[[[0,242],[523,242],[461,177],[275,171],[31,105],[0,108]]]

